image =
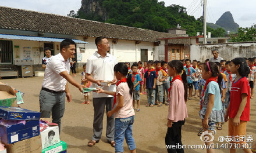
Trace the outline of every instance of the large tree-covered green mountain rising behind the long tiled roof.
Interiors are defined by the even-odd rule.
[[[189,16],[180,5],[166,7],[165,2],[158,0],[82,0],[81,4],[77,13],[70,11],[67,16],[159,32],[167,32],[179,24],[187,29],[189,36],[202,32],[202,17]],[[207,28],[207,32],[214,31]]]

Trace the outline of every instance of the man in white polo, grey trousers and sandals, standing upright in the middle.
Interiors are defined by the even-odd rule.
[[[105,37],[95,39],[98,51],[89,57],[86,64],[86,78],[93,82],[94,88],[102,88],[104,90],[115,91],[117,79],[114,74],[114,66],[118,63],[115,56],[107,53],[109,50],[109,42]],[[101,81],[112,81],[110,86],[101,86]],[[93,121],[93,138],[88,142],[88,146],[92,147],[101,139],[103,129],[103,116],[106,106],[106,112],[111,111],[113,107],[114,97],[105,93],[93,93],[94,121]],[[114,141],[115,119],[113,115],[107,116],[106,123],[106,139],[115,147]]]

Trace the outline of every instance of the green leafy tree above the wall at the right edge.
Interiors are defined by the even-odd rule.
[[[256,41],[256,24],[252,25],[250,28],[239,27],[237,37],[235,35],[231,35],[230,42],[246,41]]]

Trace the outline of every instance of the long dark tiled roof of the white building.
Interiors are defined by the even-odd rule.
[[[155,42],[174,34],[0,6],[0,28]]]

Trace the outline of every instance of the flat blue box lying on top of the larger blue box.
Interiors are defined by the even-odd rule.
[[[6,120],[39,120],[40,112],[26,110],[20,107],[0,106],[0,118]]]

